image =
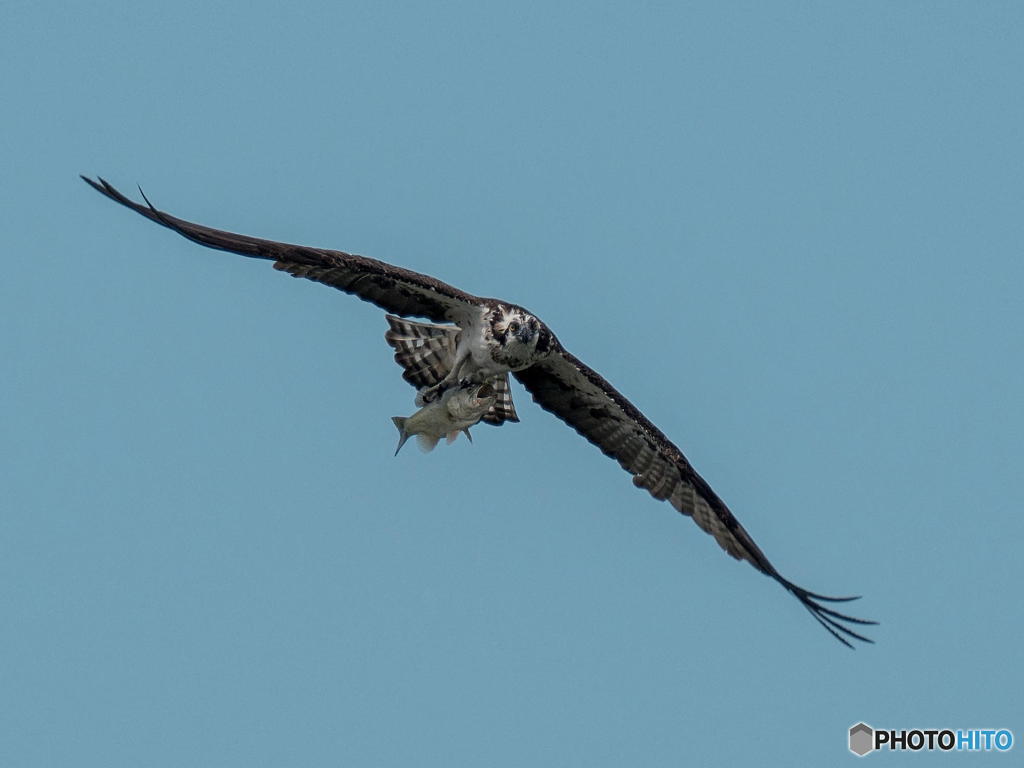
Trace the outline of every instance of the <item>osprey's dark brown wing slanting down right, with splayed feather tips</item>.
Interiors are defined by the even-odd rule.
[[[682,452],[632,402],[560,344],[543,362],[513,375],[541,408],[617,461],[633,475],[634,485],[646,488],[655,499],[668,500],[684,515],[692,517],[730,555],[746,560],[781,584],[840,642],[850,647],[846,637],[872,642],[842,623],[876,622],[854,618],[821,604],[856,598],[818,595],[783,579]]]

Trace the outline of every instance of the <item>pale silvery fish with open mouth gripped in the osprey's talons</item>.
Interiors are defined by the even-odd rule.
[[[464,383],[446,390],[440,398],[427,402],[412,416],[391,417],[398,428],[398,447],[394,455],[398,455],[413,435],[424,453],[433,451],[441,437],[447,437],[449,444],[455,442],[460,432],[465,432],[472,442],[469,428],[486,415],[497,399],[498,393],[488,382]]]

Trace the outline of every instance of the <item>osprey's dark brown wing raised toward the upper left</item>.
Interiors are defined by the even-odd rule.
[[[212,229],[129,200],[103,179],[82,176],[93,189],[158,224],[208,248],[267,259],[275,269],[358,296],[389,312],[429,317],[435,323],[465,319],[479,298],[428,274],[342,251],[308,248]],[[141,190],[140,190],[141,191]],[[145,195],[142,195],[145,199]]]

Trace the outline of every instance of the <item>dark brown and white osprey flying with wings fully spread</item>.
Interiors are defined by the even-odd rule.
[[[275,269],[294,278],[337,288],[393,313],[387,315],[390,328],[385,338],[404,369],[403,378],[419,390],[418,406],[426,408],[443,399],[454,387],[488,384],[494,402],[472,418],[493,425],[518,421],[509,389],[511,374],[541,408],[617,461],[633,476],[634,485],[668,501],[692,517],[729,555],[778,582],[841,643],[852,648],[850,639],[873,642],[849,625],[877,622],[855,618],[824,604],[856,597],[819,595],[783,578],[682,452],[523,307],[473,296],[427,274],[364,256],[213,229],[157,210],[144,194],[142,205],[102,178],[82,179],[111,200],[200,245],[272,261]],[[432,324],[402,319],[409,315],[426,317]]]

